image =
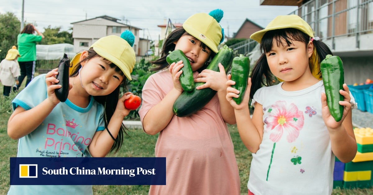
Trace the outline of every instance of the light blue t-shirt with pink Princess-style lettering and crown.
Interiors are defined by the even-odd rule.
[[[12,101],[13,110],[34,108],[47,98],[45,74],[35,77]],[[91,96],[87,108],[68,99],[60,102],[40,126],[18,140],[17,157],[91,157],[88,145],[96,131],[104,130],[104,107]],[[16,118],[15,118],[16,119]],[[32,118],[21,123],[32,123]],[[91,185],[12,185],[8,194],[92,194]]]

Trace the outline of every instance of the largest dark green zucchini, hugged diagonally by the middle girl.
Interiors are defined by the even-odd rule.
[[[233,59],[233,50],[224,45],[222,49],[214,56],[206,69],[219,71],[219,62],[224,66],[225,71],[231,67]],[[194,114],[204,107],[214,97],[216,91],[211,88],[197,90],[196,87],[203,85],[204,82],[195,83],[193,91],[184,91],[173,103],[173,113],[178,117],[186,117]]]

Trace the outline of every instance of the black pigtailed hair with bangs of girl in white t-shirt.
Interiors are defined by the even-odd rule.
[[[272,49],[273,43],[276,43],[277,46],[279,46],[280,44],[283,45],[283,40],[285,40],[288,46],[292,44],[292,41],[301,41],[305,43],[305,46],[307,48],[308,42],[310,41],[310,36],[294,28],[270,30],[264,34],[260,42],[260,51],[262,54],[253,67],[253,70],[251,71],[251,99],[253,98],[255,92],[263,85],[270,86],[277,83],[277,78],[269,69],[266,53]],[[322,78],[320,71],[320,62],[325,59],[326,55],[332,55],[332,51],[330,51],[329,47],[320,40],[313,40],[313,46],[316,49],[317,53],[316,60],[314,64],[312,64],[310,58],[308,64],[311,71],[313,71],[314,66],[317,66],[317,70],[319,71],[317,72],[317,74],[319,75],[319,78]]]

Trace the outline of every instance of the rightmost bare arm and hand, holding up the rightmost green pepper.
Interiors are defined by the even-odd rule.
[[[340,121],[336,122],[330,115],[325,93],[321,95],[321,102],[322,116],[329,131],[332,151],[341,162],[347,163],[354,159],[357,151],[357,144],[352,128],[350,91],[346,84],[343,84],[343,89],[344,90],[339,91],[339,93],[344,96],[344,101],[339,101],[339,104],[344,106],[343,116]]]

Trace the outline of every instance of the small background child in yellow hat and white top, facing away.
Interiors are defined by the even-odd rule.
[[[9,96],[12,85],[18,83],[18,76],[21,75],[17,58],[21,56],[16,48],[9,49],[5,59],[0,63],[0,82],[4,85],[3,95]]]

